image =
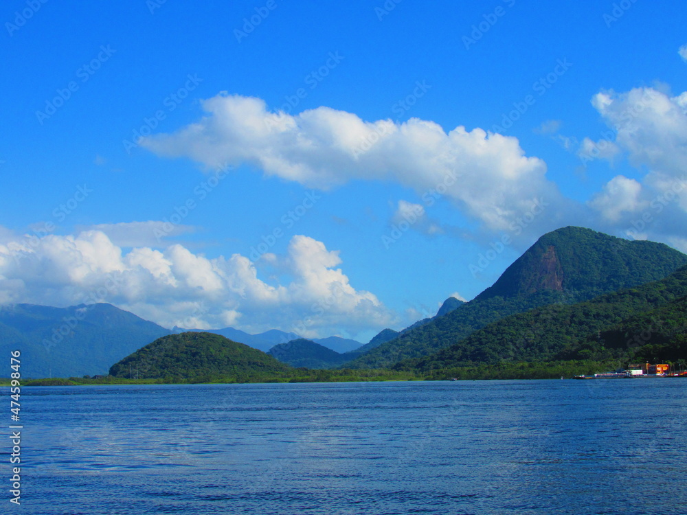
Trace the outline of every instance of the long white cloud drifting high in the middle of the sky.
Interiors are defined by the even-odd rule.
[[[263,100],[221,93],[203,102],[205,116],[139,145],[208,167],[247,163],[265,174],[328,190],[350,180],[390,180],[419,195],[438,185],[488,229],[504,230],[545,197],[563,205],[541,159],[526,157],[515,137],[462,126],[445,132],[417,118],[365,122],[319,107],[290,115]]]

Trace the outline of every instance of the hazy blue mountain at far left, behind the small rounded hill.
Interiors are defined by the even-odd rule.
[[[0,352],[21,350],[25,378],[107,374],[112,363],[169,330],[111,304],[0,310]],[[0,371],[8,377],[10,369]]]

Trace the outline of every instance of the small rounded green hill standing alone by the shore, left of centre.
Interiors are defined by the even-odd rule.
[[[264,352],[220,334],[183,332],[163,336],[115,363],[110,375],[140,379],[242,378],[291,369]]]

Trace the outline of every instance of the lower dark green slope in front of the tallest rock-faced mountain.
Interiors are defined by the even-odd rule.
[[[638,355],[642,345],[684,341],[686,295],[684,267],[637,288],[504,317],[436,354],[403,361],[394,368],[433,371],[475,363],[627,361]]]

